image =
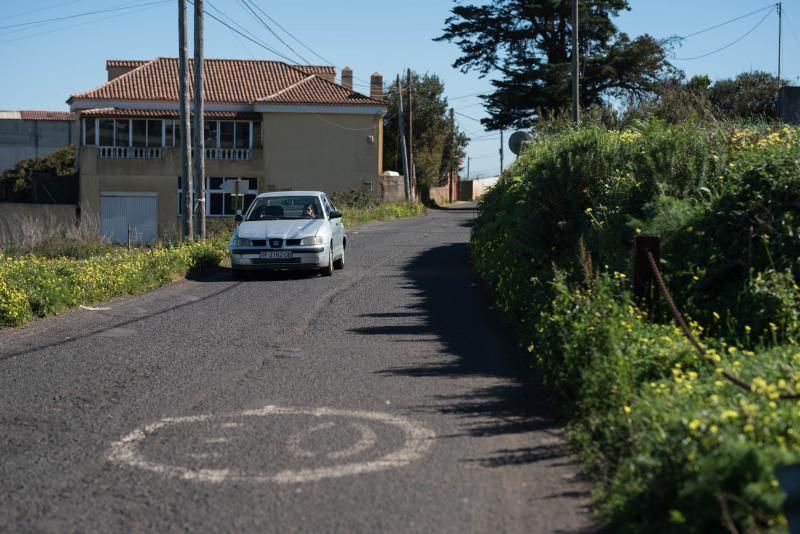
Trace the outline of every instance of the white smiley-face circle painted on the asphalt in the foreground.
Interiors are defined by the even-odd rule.
[[[276,415],[310,415],[317,417],[342,417],[359,419],[361,421],[375,422],[395,427],[403,432],[405,440],[399,449],[386,454],[378,459],[366,462],[343,463],[329,467],[315,467],[309,469],[285,469],[277,473],[242,473],[231,469],[197,469],[183,467],[179,465],[169,465],[165,463],[148,460],[139,450],[139,446],[153,433],[172,425],[185,423],[200,423],[219,418],[232,417],[270,417]],[[375,432],[368,425],[362,422],[350,423],[361,434],[360,439],[352,447],[340,451],[328,453],[330,459],[343,459],[359,454],[372,448],[377,441]],[[224,426],[224,425],[223,425]],[[301,442],[304,437],[313,432],[332,428],[333,423],[323,423],[305,432],[295,434],[287,442],[287,449],[296,457],[313,457],[316,453],[302,448]],[[436,435],[424,426],[411,421],[405,417],[391,415],[382,412],[367,412],[359,410],[338,410],[335,408],[298,408],[265,406],[257,410],[244,410],[222,415],[192,415],[186,417],[165,417],[157,423],[153,423],[141,428],[137,428],[119,441],[111,444],[108,459],[118,464],[126,464],[153,473],[191,480],[196,482],[274,482],[277,484],[296,484],[301,482],[311,482],[325,478],[338,478],[365,473],[374,473],[386,469],[402,467],[409,463],[419,460],[433,445],[433,438]]]

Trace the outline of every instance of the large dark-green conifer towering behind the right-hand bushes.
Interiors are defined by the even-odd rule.
[[[499,73],[485,97],[488,129],[530,126],[537,116],[570,105],[571,0],[494,0],[457,5],[437,41],[462,52],[453,67],[482,76]],[[631,40],[612,17],[628,0],[580,0],[581,104],[603,98],[642,96],[671,70],[660,42],[649,35]]]

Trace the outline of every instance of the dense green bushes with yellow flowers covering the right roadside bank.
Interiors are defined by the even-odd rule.
[[[569,418],[613,531],[785,529],[797,461],[800,146],[792,128],[587,125],[540,137],[484,197],[474,264]],[[631,243],[710,349],[626,291]],[[744,390],[725,380],[739,376]]]

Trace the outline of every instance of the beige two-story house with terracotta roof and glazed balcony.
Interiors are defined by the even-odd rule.
[[[78,116],[82,213],[117,241],[128,224],[143,241],[177,235],[178,60],[109,60],[106,69],[107,83],[67,100]],[[264,191],[371,189],[383,170],[383,80],[372,75],[367,97],[353,91],[350,69],[334,78],[333,67],[205,60],[209,217],[233,213],[222,189],[230,178],[248,179],[246,204]]]

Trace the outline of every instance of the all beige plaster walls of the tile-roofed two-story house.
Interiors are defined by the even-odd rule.
[[[367,181],[373,191],[381,187],[380,115],[265,113],[263,117],[263,149],[253,149],[253,158],[246,161],[206,160],[207,177],[257,178],[259,192],[365,190]],[[81,147],[77,163],[84,213],[99,218],[103,192],[157,193],[159,234],[175,232],[179,148],[165,148],[162,158],[143,160],[98,159],[97,149]]]

